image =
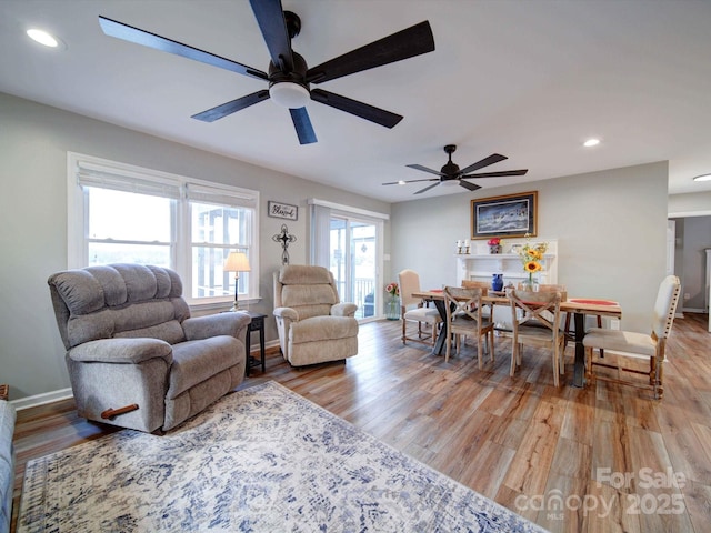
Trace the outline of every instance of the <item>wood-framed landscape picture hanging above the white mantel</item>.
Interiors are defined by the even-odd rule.
[[[538,191],[471,201],[471,238],[535,237]]]

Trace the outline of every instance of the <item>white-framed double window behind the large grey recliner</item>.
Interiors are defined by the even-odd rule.
[[[234,298],[230,251],[252,270],[239,294],[258,298],[259,192],[69,153],[69,266],[117,262],[176,270],[191,304]]]

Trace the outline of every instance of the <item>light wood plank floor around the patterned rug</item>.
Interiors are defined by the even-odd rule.
[[[602,381],[573,389],[570,346],[558,390],[543,351],[527,348],[510,378],[511,343],[500,338],[483,371],[471,343],[445,364],[425,345],[403,345],[395,321],[363,324],[346,364],[297,370],[272,353],[267,373],[240,388],[276,380],[554,532],[702,533],[711,523],[707,324],[690,313],[674,322],[661,402]],[[69,401],[18,413],[16,519],[28,460],[112,431],[78,419]]]

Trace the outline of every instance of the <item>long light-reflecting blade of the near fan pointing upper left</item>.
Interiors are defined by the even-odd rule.
[[[269,77],[266,72],[258,69],[252,69],[246,64],[238,63],[227,58],[216,56],[204,50],[183,44],[182,42],[173,41],[164,37],[157,36],[150,31],[144,31],[132,26],[124,24],[117,20],[107,19],[106,17],[99,17],[99,24],[107,36],[116,37],[124,41],[133,42],[136,44],[142,44],[154,50],[162,52],[173,53],[183,58],[200,61],[201,63],[211,64],[212,67],[219,67],[220,69],[230,70],[238,74],[244,74],[260,80],[268,80]]]

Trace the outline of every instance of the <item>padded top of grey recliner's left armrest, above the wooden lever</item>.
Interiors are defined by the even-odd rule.
[[[161,358],[170,364],[173,360],[173,349],[160,339],[100,339],[72,348],[68,355],[78,362],[131,364]]]

